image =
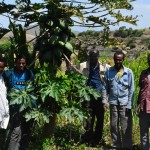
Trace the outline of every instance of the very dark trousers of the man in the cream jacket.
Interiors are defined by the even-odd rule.
[[[83,138],[86,142],[99,142],[102,139],[104,124],[104,108],[102,99],[99,98],[96,100],[93,96],[91,96],[89,102],[84,102],[84,107],[89,110],[89,117],[84,122],[86,132]]]

